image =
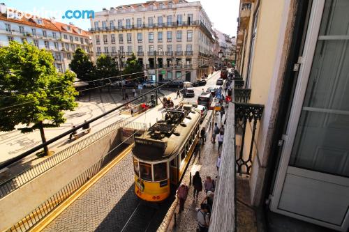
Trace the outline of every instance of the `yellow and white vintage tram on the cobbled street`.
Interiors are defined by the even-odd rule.
[[[183,105],[135,137],[135,194],[144,201],[163,201],[177,186],[199,139],[200,110]]]

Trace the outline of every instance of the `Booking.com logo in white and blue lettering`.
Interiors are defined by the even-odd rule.
[[[34,8],[31,12],[16,10],[15,8],[6,8],[7,18],[9,19],[22,19],[25,17],[26,19],[43,19],[50,18],[51,20],[55,20],[57,18],[62,19],[89,19],[94,18],[94,10],[45,10],[44,8],[36,9]]]

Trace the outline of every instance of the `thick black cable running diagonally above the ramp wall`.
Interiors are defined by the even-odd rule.
[[[203,64],[203,65],[200,65],[200,66],[204,66],[204,65],[207,65],[207,64]],[[64,133],[62,133],[62,134],[59,134],[57,137],[54,137],[54,138],[52,138],[52,139],[46,141],[45,143],[40,144],[39,146],[36,146],[36,147],[34,147],[34,148],[31,148],[30,150],[27,150],[26,152],[24,152],[24,153],[22,153],[22,154],[20,154],[20,155],[17,155],[16,157],[13,157],[13,158],[10,159],[10,160],[6,160],[5,162],[2,162],[2,163],[0,164],[0,169],[3,169],[3,168],[5,168],[5,167],[8,167],[10,164],[13,164],[13,163],[15,163],[15,162],[17,162],[17,161],[19,161],[19,160],[22,160],[24,157],[27,157],[28,155],[31,155],[32,153],[34,153],[34,152],[40,150],[41,148],[43,148],[43,147],[45,147],[45,146],[48,146],[48,145],[52,144],[54,141],[57,141],[57,140],[59,140],[59,139],[62,139],[62,138],[64,138],[64,137],[66,137],[67,135],[69,135],[69,134],[75,132],[76,130],[79,130],[79,129],[82,128],[84,125],[93,123],[94,121],[97,121],[98,119],[103,118],[103,117],[106,116],[107,114],[110,114],[110,113],[116,111],[117,109],[121,109],[122,107],[124,107],[124,106],[130,104],[131,102],[135,102],[136,100],[142,98],[143,96],[148,95],[149,93],[156,91],[158,88],[161,88],[161,87],[165,86],[166,84],[168,84],[168,83],[170,83],[170,82],[174,82],[175,80],[180,79],[181,77],[184,77],[187,73],[191,73],[191,72],[193,72],[193,71],[194,71],[194,70],[190,70],[190,71],[188,71],[188,72],[185,72],[184,75],[181,75],[181,76],[179,76],[179,77],[176,77],[176,78],[170,80],[169,82],[167,82],[167,83],[165,83],[165,84],[162,84],[161,86],[158,86],[158,87],[156,87],[156,88],[153,88],[153,89],[151,89],[150,91],[147,91],[146,93],[143,93],[142,95],[139,95],[138,97],[133,98],[133,100],[129,100],[128,102],[125,102],[124,104],[115,107],[114,109],[110,109],[109,111],[106,111],[105,113],[100,114],[99,116],[96,116],[95,118],[90,119],[90,120],[87,121],[86,123],[82,123],[82,124],[80,124],[80,125],[77,125],[75,128],[72,128],[72,129],[70,129],[70,130],[68,130],[68,131],[66,131],[66,132],[64,132]]]

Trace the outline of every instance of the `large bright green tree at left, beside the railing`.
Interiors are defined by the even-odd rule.
[[[50,52],[27,42],[10,42],[0,48],[0,130],[31,132],[59,127],[64,110],[77,107],[73,86],[75,74],[58,73]],[[47,146],[44,154],[48,155]]]

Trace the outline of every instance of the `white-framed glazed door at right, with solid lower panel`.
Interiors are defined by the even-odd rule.
[[[315,0],[270,208],[349,228],[349,1]]]

